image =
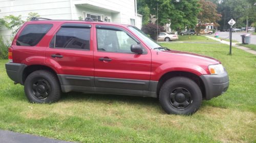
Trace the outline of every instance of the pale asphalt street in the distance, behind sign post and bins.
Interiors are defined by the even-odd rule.
[[[227,38],[229,37],[229,32],[216,32],[219,34],[219,37],[221,38]],[[239,42],[242,43],[242,37],[241,35],[244,35],[244,34],[251,34],[251,33],[246,33],[246,32],[232,32],[232,39],[233,40],[237,40]],[[214,35],[214,34],[212,34]],[[256,35],[251,35],[251,44],[255,44],[256,45]]]

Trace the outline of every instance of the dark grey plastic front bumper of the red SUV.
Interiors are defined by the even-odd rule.
[[[223,74],[201,75],[205,87],[205,100],[217,97],[227,91],[229,86],[229,78],[227,71]]]

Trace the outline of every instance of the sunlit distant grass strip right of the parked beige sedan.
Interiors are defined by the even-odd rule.
[[[179,40],[177,41],[183,41],[183,42],[218,42],[216,40],[208,39],[204,36],[197,36],[197,35],[179,35]]]

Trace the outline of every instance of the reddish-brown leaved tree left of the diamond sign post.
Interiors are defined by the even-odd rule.
[[[202,25],[206,23],[214,23],[216,26],[219,26],[218,22],[221,19],[221,14],[218,14],[216,8],[217,6],[207,0],[200,0],[199,4],[201,5],[202,11],[198,14],[198,27],[196,28],[197,33],[200,32]]]

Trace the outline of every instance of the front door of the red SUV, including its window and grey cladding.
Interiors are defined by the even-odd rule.
[[[151,76],[151,51],[131,52],[140,44],[121,27],[96,25],[95,85],[99,88],[147,90]]]

